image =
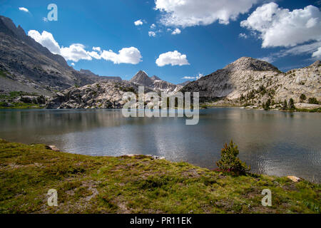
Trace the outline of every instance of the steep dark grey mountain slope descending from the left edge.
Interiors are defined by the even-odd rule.
[[[41,46],[5,16],[0,16],[0,75],[1,93],[24,91],[47,96],[101,80],[68,66],[62,56]]]

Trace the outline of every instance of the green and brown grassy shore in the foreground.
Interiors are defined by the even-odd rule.
[[[90,157],[0,140],[0,176],[0,213],[320,213],[321,185],[143,155]],[[48,206],[49,189],[58,207]],[[264,189],[272,207],[261,204]]]

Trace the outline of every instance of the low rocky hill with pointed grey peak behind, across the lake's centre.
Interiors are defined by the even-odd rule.
[[[131,81],[101,80],[92,85],[73,86],[63,90],[49,101],[47,108],[123,108],[126,103],[123,94],[133,92],[137,95],[138,86],[144,86],[145,93],[156,91],[160,95],[161,92],[173,95],[178,88],[183,88],[162,81],[157,76],[149,78],[145,71],[138,71]],[[146,100],[146,104],[149,101]]]

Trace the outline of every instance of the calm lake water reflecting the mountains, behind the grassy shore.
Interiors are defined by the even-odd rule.
[[[233,139],[253,172],[321,181],[320,113],[214,108],[185,118],[123,118],[121,110],[0,110],[0,138],[83,155],[146,154],[215,168]]]

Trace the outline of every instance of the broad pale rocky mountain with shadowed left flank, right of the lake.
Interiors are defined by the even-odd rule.
[[[268,99],[274,103],[292,98],[300,101],[300,95],[321,100],[321,65],[282,73],[272,64],[243,57],[225,68],[188,83],[182,92],[199,92],[202,102],[225,99],[234,105],[262,105]]]

